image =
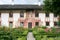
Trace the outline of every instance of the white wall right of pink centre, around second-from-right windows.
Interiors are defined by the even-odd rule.
[[[48,27],[53,27],[54,26],[54,15],[53,13],[49,14],[49,17],[45,16],[45,13],[39,13],[39,19],[41,20],[41,24],[43,26],[46,26],[46,21],[48,21],[50,23],[50,26]]]

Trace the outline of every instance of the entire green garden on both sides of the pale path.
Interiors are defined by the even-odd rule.
[[[0,40],[27,40],[28,32],[33,33],[35,40],[60,40],[60,32],[57,32],[56,28],[45,26],[32,29],[0,27]]]

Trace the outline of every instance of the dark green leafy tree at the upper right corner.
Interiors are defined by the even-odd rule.
[[[60,0],[45,0],[44,1],[44,10],[45,12],[52,12],[59,16],[59,25],[60,25]]]

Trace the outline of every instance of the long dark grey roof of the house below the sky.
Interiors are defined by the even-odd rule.
[[[0,5],[0,10],[42,9],[38,5]]]

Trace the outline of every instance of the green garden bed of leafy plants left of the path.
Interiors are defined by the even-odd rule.
[[[28,29],[0,27],[0,40],[27,40]]]

